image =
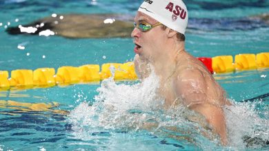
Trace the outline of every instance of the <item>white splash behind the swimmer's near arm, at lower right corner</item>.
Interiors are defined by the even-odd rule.
[[[261,118],[259,116],[260,111],[255,108],[261,103],[236,103],[234,106],[229,106],[224,110],[230,146],[246,148],[246,142],[243,142],[243,137],[259,137],[260,139],[268,140],[269,120]],[[263,111],[263,115],[268,117],[268,111]]]

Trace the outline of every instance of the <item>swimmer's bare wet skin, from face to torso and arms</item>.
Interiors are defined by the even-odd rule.
[[[155,24],[150,16],[137,12],[135,22]],[[148,32],[135,28],[135,69],[143,80],[154,70],[159,77],[159,94],[165,98],[165,108],[180,104],[205,117],[212,131],[228,143],[223,106],[230,105],[225,91],[211,73],[195,57],[185,51],[185,43],[179,41],[177,32],[168,27],[154,27]]]

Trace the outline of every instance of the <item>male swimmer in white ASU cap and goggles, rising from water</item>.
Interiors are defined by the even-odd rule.
[[[135,70],[141,80],[154,69],[165,108],[183,104],[202,115],[221,143],[228,143],[225,91],[202,62],[185,50],[188,10],[181,0],[144,1],[135,16]]]

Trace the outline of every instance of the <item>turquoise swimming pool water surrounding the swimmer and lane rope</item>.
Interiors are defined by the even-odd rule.
[[[5,26],[30,23],[33,20],[68,13],[122,13],[135,15],[141,1],[29,1],[0,2],[0,70],[37,69],[62,66],[102,65],[128,62],[133,56],[131,38],[82,38],[61,36],[12,36]],[[190,24],[186,49],[190,54],[213,57],[236,54],[258,54],[269,51],[269,26],[250,16],[268,13],[268,1],[188,1]],[[18,20],[19,21],[18,21]],[[23,45],[25,49],[18,49]],[[241,102],[269,93],[268,69],[217,74],[215,78],[226,89],[228,97]],[[170,113],[155,111],[150,102],[154,81],[106,81],[102,84],[74,84],[47,89],[0,91],[1,150],[243,150],[243,135],[268,138],[268,97],[261,101],[237,103],[227,111],[231,144],[217,146],[199,135],[195,125]],[[123,91],[124,90],[124,91]],[[147,90],[147,91],[146,91]],[[143,102],[143,100],[148,102]],[[8,100],[14,101],[8,104]],[[130,103],[130,100],[135,102]],[[117,104],[114,112],[103,104]],[[57,102],[57,104],[53,103]],[[87,103],[85,103],[87,102]],[[121,103],[124,102],[124,105]],[[141,103],[139,106],[137,102]],[[12,103],[12,102],[11,102]],[[31,103],[31,104],[27,104]],[[51,104],[52,108],[34,110],[32,104]],[[59,105],[58,105],[59,104]],[[95,107],[91,109],[88,104]],[[135,107],[136,106],[136,107]],[[138,107],[137,107],[138,106]],[[132,109],[135,108],[134,111]],[[123,111],[128,111],[125,113]],[[148,111],[148,112],[146,112]],[[140,114],[139,114],[140,113]],[[144,113],[141,116],[141,113]],[[119,116],[120,115],[120,116]],[[152,117],[161,124],[178,127],[160,130],[136,130]],[[119,120],[126,118],[125,120]],[[136,122],[136,123],[135,123]],[[257,146],[257,150],[268,150]]]

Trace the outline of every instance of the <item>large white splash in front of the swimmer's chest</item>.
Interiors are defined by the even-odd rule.
[[[97,89],[99,95],[94,97],[95,103],[92,106],[87,102],[79,104],[69,115],[71,123],[78,129],[81,126],[134,127],[135,123],[146,120],[150,111],[157,111],[163,105],[163,99],[156,95],[159,82],[155,76],[152,74],[144,82],[133,85],[116,84],[112,78],[103,80]],[[142,114],[136,115],[132,111]]]

